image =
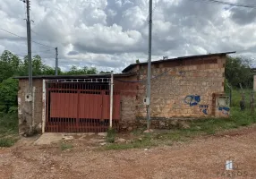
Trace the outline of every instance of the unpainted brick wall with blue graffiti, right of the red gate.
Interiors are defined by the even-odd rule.
[[[153,64],[152,77],[165,73],[151,81],[152,119],[211,115],[212,94],[224,92],[225,64],[226,56],[192,59],[190,64]],[[147,78],[147,66],[141,66],[139,76],[140,80]],[[139,118],[146,116],[142,104],[145,89],[146,83],[141,83],[136,114]]]

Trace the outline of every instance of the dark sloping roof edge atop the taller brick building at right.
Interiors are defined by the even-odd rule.
[[[166,60],[152,61],[151,64],[158,64],[158,63],[162,63],[162,62],[170,62],[170,61],[174,61],[174,60],[183,60],[183,59],[188,59],[188,58],[208,57],[208,56],[213,56],[213,55],[227,55],[227,54],[234,54],[234,53],[235,53],[235,51],[233,51],[233,52],[216,53],[216,54],[207,54],[207,55],[180,56],[180,57],[170,58],[170,59],[166,59]],[[148,62],[138,63],[138,64],[148,64]],[[122,72],[128,72],[129,70],[132,69],[132,67],[134,67],[136,65],[137,64],[130,64],[129,66],[124,68],[124,70]]]

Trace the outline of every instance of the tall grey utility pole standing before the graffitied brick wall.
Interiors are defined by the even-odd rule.
[[[148,60],[148,78],[147,78],[147,128],[150,130],[150,80],[151,80],[151,49],[152,49],[152,0],[149,0],[149,60]]]

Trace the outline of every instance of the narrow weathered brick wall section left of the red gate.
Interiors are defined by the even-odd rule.
[[[20,134],[30,135],[33,132],[41,132],[42,125],[42,80],[36,79],[32,82],[34,105],[32,102],[26,102],[26,94],[29,91],[29,81],[27,79],[19,80],[18,92],[18,117]],[[33,107],[32,107],[33,106]],[[30,113],[30,107],[33,113]],[[33,118],[33,120],[32,120]]]

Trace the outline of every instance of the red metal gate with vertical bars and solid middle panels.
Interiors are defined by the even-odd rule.
[[[107,132],[108,84],[47,82],[46,132]],[[120,94],[114,92],[113,126],[120,119]]]

